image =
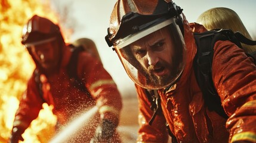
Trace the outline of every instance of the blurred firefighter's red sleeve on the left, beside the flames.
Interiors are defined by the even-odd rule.
[[[26,130],[32,120],[38,117],[39,111],[42,109],[42,98],[39,95],[34,75],[27,83],[27,89],[24,91],[20,99],[20,104],[14,118],[13,127]]]

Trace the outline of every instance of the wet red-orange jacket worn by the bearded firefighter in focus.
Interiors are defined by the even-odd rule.
[[[218,41],[214,46],[212,79],[220,95],[229,119],[209,111],[196,82],[193,59],[196,43],[193,32],[205,28],[184,20],[186,43],[186,67],[180,80],[161,97],[162,114],[158,114],[152,126],[149,120],[153,111],[145,89],[136,85],[139,99],[139,123],[137,142],[167,142],[168,123],[178,142],[233,142],[246,139],[256,142],[256,67],[242,49],[230,41]]]

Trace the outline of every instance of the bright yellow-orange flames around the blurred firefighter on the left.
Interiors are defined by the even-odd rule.
[[[21,30],[34,14],[47,17],[56,23],[58,15],[50,8],[50,1],[1,0],[0,142],[7,142],[10,137],[18,99],[26,89],[26,82],[35,68],[32,58],[20,43]],[[43,107],[38,119],[24,132],[24,142],[48,142],[54,135],[56,117],[52,113],[53,107],[47,104]]]

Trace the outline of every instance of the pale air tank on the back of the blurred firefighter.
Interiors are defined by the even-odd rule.
[[[80,38],[74,41],[72,45],[74,45],[75,47],[79,47],[79,46],[84,47],[85,51],[90,52],[95,58],[101,61],[100,54],[98,54],[97,47],[91,39]]]

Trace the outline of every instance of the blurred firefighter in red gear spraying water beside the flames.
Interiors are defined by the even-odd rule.
[[[23,141],[22,133],[38,117],[44,102],[54,106],[57,131],[76,115],[98,106],[98,114],[90,128],[69,142],[121,142],[116,133],[121,95],[97,58],[81,51],[76,62],[71,61],[72,48],[64,42],[59,26],[38,15],[24,26],[21,43],[35,61],[36,69],[16,111],[11,143]],[[67,72],[70,64],[76,65],[72,71],[76,71],[77,78],[70,79]]]

